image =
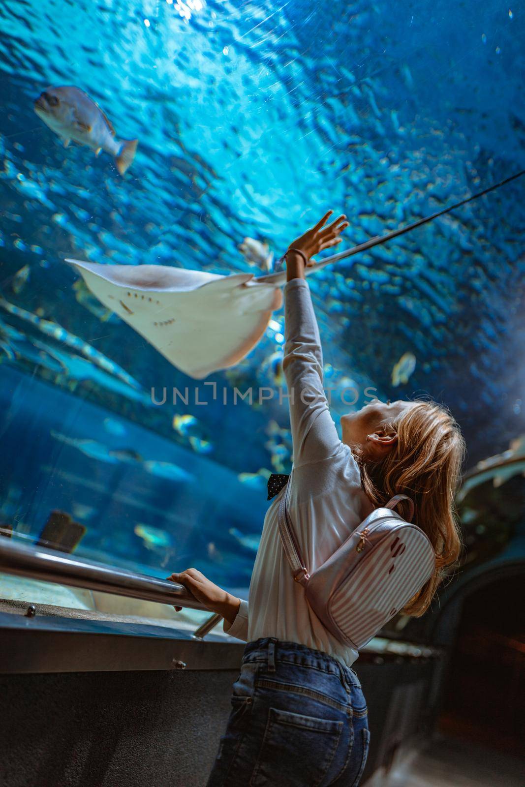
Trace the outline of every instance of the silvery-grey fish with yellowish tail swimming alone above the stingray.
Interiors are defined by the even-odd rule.
[[[101,150],[115,157],[120,175],[131,166],[135,158],[138,139],[115,139],[115,129],[102,109],[84,91],[73,85],[48,87],[36,99],[35,113],[64,141],[78,142],[94,150]]]

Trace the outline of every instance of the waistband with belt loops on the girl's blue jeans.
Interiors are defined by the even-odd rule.
[[[276,637],[260,637],[246,644],[242,656],[242,663],[252,661],[275,663],[279,660],[303,667],[315,667],[324,672],[332,672],[339,675],[350,686],[361,688],[357,674],[350,667],[342,664],[329,653],[309,648],[308,645],[302,645],[301,642],[289,642]]]

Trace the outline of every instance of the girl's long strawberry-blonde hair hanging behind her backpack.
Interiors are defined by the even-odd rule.
[[[450,412],[434,401],[415,401],[397,419],[384,424],[397,433],[397,444],[379,461],[357,451],[361,484],[375,506],[395,494],[412,497],[412,519],[434,547],[434,575],[405,605],[406,615],[419,618],[431,604],[446,569],[457,561],[462,542],[457,525],[454,496],[464,460],[465,443]],[[397,510],[407,515],[407,508]]]

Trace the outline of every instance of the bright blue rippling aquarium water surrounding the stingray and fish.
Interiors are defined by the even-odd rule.
[[[279,257],[333,207],[353,244],[525,168],[525,4],[6,0],[0,23],[0,515],[34,536],[58,508],[79,552],[247,586],[286,407],[153,405],[194,381],[62,260],[257,272],[246,236]],[[35,115],[53,84],[139,139],[124,178]],[[310,279],[327,384],[445,401],[469,464],[523,433],[523,189]],[[274,386],[282,328],[209,381]]]

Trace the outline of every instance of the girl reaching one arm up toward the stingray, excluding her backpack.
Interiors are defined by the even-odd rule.
[[[395,494],[409,495],[416,506],[412,521],[436,555],[434,576],[405,608],[419,616],[460,552],[453,495],[464,442],[449,412],[428,401],[372,401],[342,416],[339,439],[305,281],[312,256],[340,242],[348,227],[346,216],[327,225],[330,215],[287,252],[283,370],[294,449],[288,511],[312,573],[373,508]],[[357,787],[366,762],[367,708],[351,669],[358,654],[324,628],[294,582],[279,538],[283,493],[264,519],[249,603],[194,568],[171,577],[224,616],[224,631],[248,643],[208,787]]]

